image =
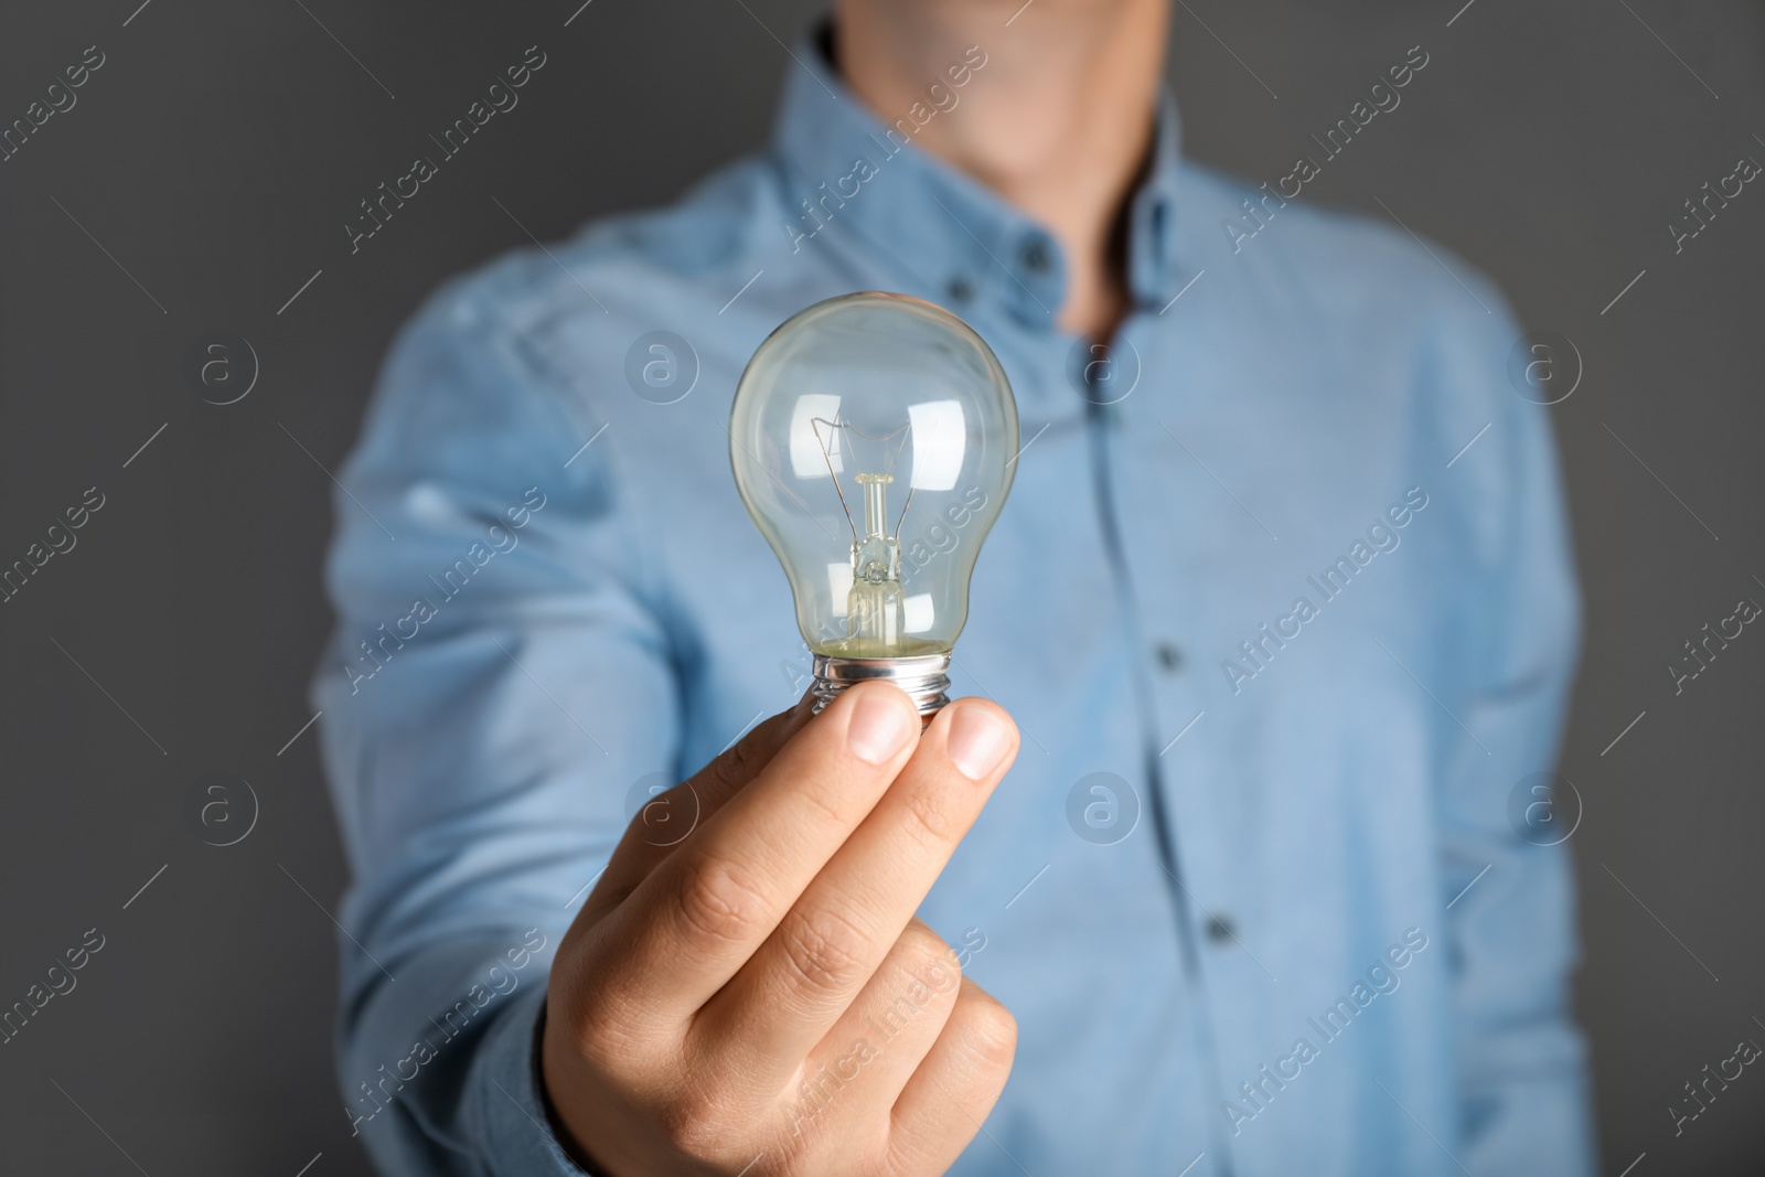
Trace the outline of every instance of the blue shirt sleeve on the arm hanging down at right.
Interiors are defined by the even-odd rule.
[[[1500,296],[1483,289],[1497,311],[1449,344],[1440,401],[1454,422],[1444,434],[1451,448],[1490,425],[1442,475],[1465,521],[1470,653],[1463,665],[1472,674],[1454,692],[1454,709],[1474,732],[1447,753],[1438,799],[1458,1159],[1483,1177],[1578,1177],[1594,1172],[1585,1048],[1569,1015],[1578,944],[1567,836],[1580,805],[1566,791],[1553,796],[1550,819],[1528,836],[1513,813],[1548,796],[1527,792],[1527,778],[1555,764],[1580,646],[1580,598],[1551,409],[1509,386],[1504,365],[1520,328]],[[1525,794],[1518,810],[1516,791]]]

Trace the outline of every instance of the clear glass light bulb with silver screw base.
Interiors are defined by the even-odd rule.
[[[1004,369],[943,307],[844,295],[759,346],[729,459],[796,595],[819,706],[867,678],[893,679],[925,715],[948,701],[969,577],[1015,455]]]

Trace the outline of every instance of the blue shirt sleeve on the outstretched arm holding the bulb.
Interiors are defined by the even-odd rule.
[[[552,949],[672,771],[678,695],[593,390],[469,289],[401,334],[339,475],[312,697],[351,884],[344,1110],[388,1175],[581,1175],[537,1075]]]

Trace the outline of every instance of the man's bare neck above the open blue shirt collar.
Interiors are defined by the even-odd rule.
[[[923,150],[1045,224],[1068,266],[1059,325],[1107,339],[1128,311],[1121,222],[1153,141],[1167,0],[1018,12],[950,0],[837,0],[840,72],[874,111],[907,109],[967,46],[987,71]]]

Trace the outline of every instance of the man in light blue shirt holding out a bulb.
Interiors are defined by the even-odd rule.
[[[367,1149],[1590,1172],[1567,863],[1507,817],[1576,596],[1498,295],[1181,161],[1165,0],[835,9],[766,152],[387,365],[316,686]],[[1025,439],[923,734],[886,685],[792,708],[727,468],[754,348],[865,288],[974,325]]]

